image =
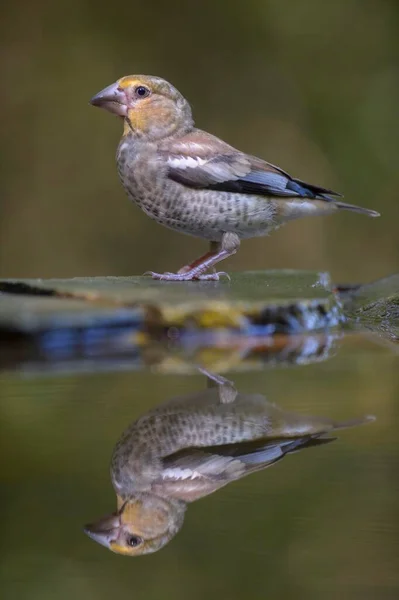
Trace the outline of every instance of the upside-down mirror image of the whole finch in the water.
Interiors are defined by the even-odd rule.
[[[372,419],[335,423],[285,412],[214,379],[217,387],[162,404],[124,432],[111,463],[117,511],[86,527],[91,538],[119,554],[155,552],[181,528],[188,502]]]

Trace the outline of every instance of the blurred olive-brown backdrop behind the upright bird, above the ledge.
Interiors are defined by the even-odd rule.
[[[206,245],[124,195],[117,119],[89,107],[149,73],[196,123],[376,209],[246,241],[228,269],[317,268],[335,280],[398,269],[399,5],[395,0],[15,0],[3,7],[2,277],[175,270]]]

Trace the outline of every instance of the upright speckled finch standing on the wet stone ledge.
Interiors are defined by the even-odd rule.
[[[159,224],[211,242],[176,273],[148,271],[153,279],[217,281],[227,274],[215,265],[241,240],[300,217],[342,209],[380,216],[197,129],[189,102],[160,77],[122,77],[90,103],[123,119],[116,162],[128,197]]]

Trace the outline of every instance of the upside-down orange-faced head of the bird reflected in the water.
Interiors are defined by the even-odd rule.
[[[116,513],[84,531],[93,540],[117,554],[140,556],[156,552],[180,530],[186,505],[179,500],[167,500],[153,494],[140,494],[123,501]]]

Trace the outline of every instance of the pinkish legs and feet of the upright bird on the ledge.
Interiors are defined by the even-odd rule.
[[[213,242],[212,242],[213,244]],[[207,252],[204,256],[197,259],[190,265],[182,267],[178,273],[154,273],[148,272],[153,279],[161,279],[164,281],[192,281],[200,279],[201,281],[218,281],[221,275],[227,273],[209,273],[206,271],[214,267],[218,262],[235,254],[240,246],[240,238],[236,233],[224,233],[222,241],[217,245],[216,249]]]

